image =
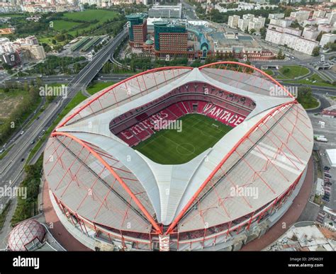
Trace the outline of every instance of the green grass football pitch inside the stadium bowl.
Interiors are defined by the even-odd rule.
[[[160,130],[133,147],[158,164],[184,164],[218,142],[232,127],[201,114],[181,118],[181,132]]]

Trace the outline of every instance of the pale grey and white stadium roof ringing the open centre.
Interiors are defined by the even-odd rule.
[[[109,130],[113,118],[193,81],[250,97],[256,107],[188,163],[157,164]],[[229,69],[168,67],[138,74],[82,102],[62,120],[45,149],[45,159],[54,155],[60,163],[45,160],[45,176],[67,207],[108,227],[150,232],[152,219],[168,225],[182,215],[180,232],[230,222],[284,193],[310,157],[313,130],[306,111],[273,90],[279,86],[269,79]],[[242,185],[257,188],[259,198],[230,195]]]

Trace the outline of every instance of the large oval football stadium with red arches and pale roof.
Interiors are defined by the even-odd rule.
[[[218,62],[87,98],[52,132],[43,172],[60,222],[92,250],[239,250],[289,209],[312,149],[291,93]]]

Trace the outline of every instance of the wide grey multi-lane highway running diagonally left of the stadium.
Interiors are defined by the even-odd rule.
[[[4,156],[4,159],[0,160],[0,187],[4,187],[4,185],[15,187],[21,183],[23,179],[23,167],[26,164],[30,150],[33,149],[31,142],[37,139],[42,130],[52,124],[52,121],[57,118],[57,115],[62,112],[67,103],[69,103],[79,91],[85,89],[92,79],[94,79],[96,74],[103,67],[103,64],[110,58],[111,53],[116,50],[121,40],[125,38],[125,35],[128,35],[127,29],[118,33],[113,40],[108,42],[108,44],[95,55],[91,62],[69,81],[67,98],[56,98],[55,102],[50,103],[50,105],[45,108],[38,120],[34,120],[22,135],[17,136],[15,142],[13,142],[13,147],[9,150],[8,154]],[[8,145],[6,148],[8,148]],[[36,157],[33,158],[33,160],[35,159]],[[9,198],[8,195],[3,195],[0,198],[0,205],[5,205]],[[4,228],[4,230],[6,229],[7,228]],[[0,234],[0,242],[5,236],[5,234]]]

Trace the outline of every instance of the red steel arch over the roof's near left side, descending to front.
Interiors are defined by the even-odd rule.
[[[138,198],[132,192],[132,190],[130,190],[130,188],[128,188],[128,185],[125,184],[125,182],[123,181],[123,179],[120,176],[118,176],[118,173],[116,173],[116,171],[114,171],[111,168],[111,166],[109,166],[108,163],[106,163],[106,161],[103,158],[101,158],[101,156],[99,156],[98,153],[96,153],[94,151],[94,149],[91,149],[91,147],[89,147],[81,139],[79,139],[77,137],[74,137],[74,135],[70,135],[69,133],[66,133],[66,132],[52,132],[51,136],[52,137],[56,137],[56,136],[69,137],[70,139],[73,139],[75,142],[81,144],[82,147],[85,147],[94,157],[96,157],[96,159],[98,161],[101,162],[101,164],[103,164],[103,166],[106,167],[106,169],[108,171],[111,172],[111,174],[116,178],[116,180],[123,186],[123,188],[128,193],[128,195],[130,195],[130,197],[134,200],[134,202],[136,203],[136,205],[138,205],[138,207],[140,208],[140,210],[142,211],[142,213],[147,217],[148,221],[150,221],[150,223],[152,224],[152,226],[155,227],[155,230],[156,230],[157,234],[162,234],[162,228],[159,227],[159,224],[157,224],[157,222],[155,222],[155,219],[152,218],[152,216],[150,215],[150,212],[148,212],[146,210],[146,208],[142,205],[142,203],[140,202],[140,200],[138,200]]]

